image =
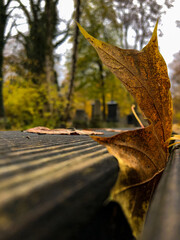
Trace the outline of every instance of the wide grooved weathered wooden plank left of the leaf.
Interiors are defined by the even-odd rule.
[[[117,174],[88,136],[0,132],[0,239],[77,238]]]

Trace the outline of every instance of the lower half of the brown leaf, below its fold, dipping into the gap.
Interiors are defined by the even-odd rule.
[[[105,145],[119,162],[120,172],[110,199],[121,205],[134,236],[139,237],[149,200],[165,168],[167,154],[153,125],[113,137],[92,138]]]

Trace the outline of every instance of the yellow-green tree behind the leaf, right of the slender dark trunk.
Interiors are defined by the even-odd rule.
[[[82,2],[81,24],[93,36],[116,44],[119,41],[118,23],[112,1]],[[82,35],[78,39],[78,61],[76,65],[74,108],[83,108],[90,116],[91,103],[98,99],[102,104],[102,112],[107,113],[108,101],[114,100],[120,106],[121,115],[128,114],[133,102],[121,82],[102,65],[95,50],[84,41]],[[67,59],[70,69],[70,59]],[[66,82],[67,83],[67,82]]]

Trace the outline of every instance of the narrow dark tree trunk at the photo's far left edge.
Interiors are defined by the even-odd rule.
[[[4,61],[4,47],[8,39],[5,36],[5,30],[10,17],[11,11],[9,10],[9,5],[12,0],[1,0],[0,1],[0,119],[5,120],[4,103],[3,103],[3,61]]]

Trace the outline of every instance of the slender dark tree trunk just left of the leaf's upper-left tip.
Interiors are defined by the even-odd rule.
[[[80,6],[81,0],[75,0],[75,20],[80,22]],[[65,109],[65,121],[70,118],[70,107],[72,103],[72,95],[74,90],[74,79],[75,79],[75,72],[76,72],[76,62],[77,62],[77,50],[78,50],[78,36],[79,36],[79,28],[77,25],[75,26],[74,30],[74,41],[73,41],[73,53],[72,53],[72,65],[71,65],[71,77],[70,77],[70,84],[69,84],[69,91],[67,95],[67,105]]]

